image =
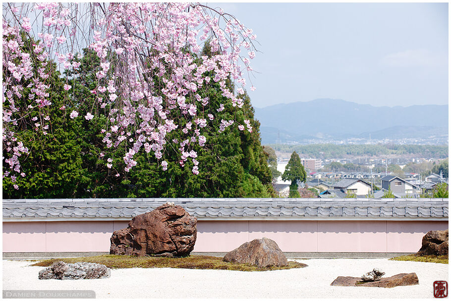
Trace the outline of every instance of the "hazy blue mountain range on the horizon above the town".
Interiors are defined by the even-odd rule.
[[[448,134],[448,105],[372,106],[317,99],[255,108],[262,143],[306,139],[403,139]]]

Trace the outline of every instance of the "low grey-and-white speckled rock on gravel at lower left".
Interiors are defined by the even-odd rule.
[[[56,261],[48,268],[39,271],[39,279],[101,279],[110,278],[111,271],[99,263]]]

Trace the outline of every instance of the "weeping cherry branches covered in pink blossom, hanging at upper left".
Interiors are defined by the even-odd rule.
[[[106,114],[107,121],[101,130],[103,142],[107,148],[123,146],[124,170],[127,172],[137,164],[133,158],[141,150],[153,151],[158,159],[163,158],[172,141],[180,142],[177,159],[180,165],[184,166],[191,157],[192,172],[199,174],[193,146],[198,143],[203,147],[206,143],[202,135],[207,127],[205,116],[212,121],[214,114],[226,107],[235,109],[243,105],[243,100],[236,95],[244,93],[243,76],[252,71],[249,62],[255,57],[255,34],[221,9],[200,3],[80,5],[84,4],[11,3],[4,7],[2,56],[3,70],[8,71],[8,76],[3,77],[3,91],[8,101],[3,102],[3,153],[4,165],[11,169],[6,176],[12,179],[13,173],[20,171],[21,155],[28,152],[15,138],[15,120],[21,114],[30,116],[38,110],[39,115],[31,116],[45,116],[43,110],[52,105],[55,93],[51,93],[48,81],[51,74],[46,64],[55,62],[60,70],[64,68],[77,74],[86,47],[94,51],[100,62],[100,68],[95,70],[97,87],[92,93],[104,95],[96,97],[95,107],[99,112],[88,107],[84,100],[77,100],[77,110],[89,112],[84,116],[86,120],[93,119],[97,113]],[[39,22],[42,28],[37,28],[37,35],[33,36],[31,24]],[[81,28],[87,32],[80,33]],[[21,31],[28,32],[40,43],[23,41]],[[79,40],[81,36],[85,40]],[[214,54],[203,56],[204,42],[199,41],[208,41]],[[24,49],[34,53],[33,60]],[[194,56],[199,59],[195,60]],[[157,78],[159,81],[154,80]],[[226,85],[229,79],[242,88],[230,89]],[[225,98],[219,108],[200,96],[201,91],[207,91],[212,85],[219,85],[220,95]],[[31,92],[23,93],[25,88]],[[68,84],[63,86],[64,91],[71,88]],[[251,90],[255,88],[252,86]],[[66,95],[64,101],[67,102],[60,110],[65,110],[65,104],[73,108],[72,96]],[[71,119],[78,116],[77,110],[72,110]],[[45,135],[48,125],[40,121],[38,130]],[[233,122],[221,120],[219,131]],[[244,123],[252,131],[250,123]],[[169,138],[171,132],[174,134]],[[11,144],[9,149],[6,143]],[[161,165],[167,170],[166,161]],[[107,167],[112,168],[112,164]]]

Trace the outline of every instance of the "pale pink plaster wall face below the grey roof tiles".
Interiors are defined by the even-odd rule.
[[[127,221],[3,222],[3,252],[110,250],[115,230]],[[198,221],[196,252],[231,251],[268,237],[285,252],[409,252],[420,249],[430,230],[448,221]]]

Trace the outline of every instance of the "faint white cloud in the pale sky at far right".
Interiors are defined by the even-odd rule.
[[[447,56],[423,49],[390,53],[384,56],[380,62],[389,67],[448,65]]]

